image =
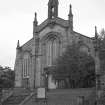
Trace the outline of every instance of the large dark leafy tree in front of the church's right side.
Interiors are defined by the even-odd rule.
[[[73,44],[57,59],[53,70],[54,79],[63,78],[67,87],[95,86],[94,60],[86,52],[80,51],[79,44]]]

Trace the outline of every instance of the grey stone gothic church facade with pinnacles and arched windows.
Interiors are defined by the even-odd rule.
[[[43,87],[47,78],[48,88],[57,88],[59,83],[52,78],[51,68],[67,45],[74,42],[81,43],[80,48],[83,51],[95,56],[93,38],[73,30],[72,6],[68,7],[68,20],[58,16],[58,6],[58,0],[49,0],[48,18],[38,25],[37,13],[35,13],[32,38],[22,46],[18,41],[14,66],[15,87],[31,89]],[[46,73],[46,70],[49,73]],[[60,85],[62,84],[61,82]]]

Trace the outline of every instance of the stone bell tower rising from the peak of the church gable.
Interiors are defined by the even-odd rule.
[[[58,0],[49,0],[48,2],[48,18],[58,17]]]

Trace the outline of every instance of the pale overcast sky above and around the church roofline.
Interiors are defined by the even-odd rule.
[[[92,37],[94,26],[105,28],[105,0],[59,0],[59,17],[68,19],[69,4],[74,30]],[[0,65],[14,67],[17,40],[32,38],[34,13],[38,23],[47,18],[48,0],[0,0]]]

